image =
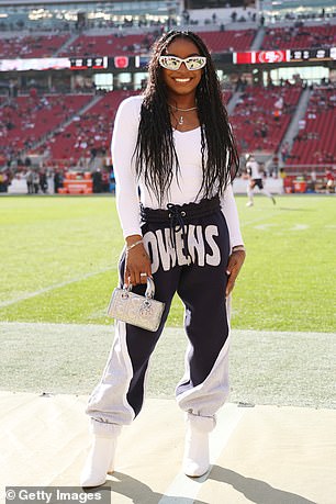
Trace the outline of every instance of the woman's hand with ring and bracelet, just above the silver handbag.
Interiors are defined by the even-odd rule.
[[[137,240],[138,239],[141,239],[141,237],[137,237]],[[132,242],[135,243],[136,240],[127,239],[126,242],[127,246],[130,246]],[[126,251],[124,283],[126,287],[128,287],[130,283],[132,283],[132,285],[147,283],[147,277],[152,277],[152,264],[144,244],[141,243]]]

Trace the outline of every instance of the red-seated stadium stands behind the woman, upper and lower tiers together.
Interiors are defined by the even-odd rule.
[[[314,68],[324,70],[317,71],[317,77],[301,75],[305,64],[302,59],[306,57],[298,56],[298,64],[285,60],[277,67],[277,61],[271,59],[268,65],[261,61],[245,64],[245,60],[239,65],[243,61],[235,64],[231,59],[226,63],[227,55],[223,59],[219,55],[264,49],[329,49],[336,46],[334,20],[316,18],[304,25],[299,19],[264,25],[258,19],[253,22],[251,16],[244,23],[225,25],[220,16],[216,22],[210,18],[205,21],[187,23],[184,27],[199,33],[216,54],[223,98],[228,105],[240,155],[254,152],[266,164],[278,156],[280,166],[290,175],[306,172],[312,165],[320,172],[333,166],[336,91],[333,83],[335,58],[333,60],[331,52],[327,63],[315,57]],[[3,72],[0,81],[0,169],[16,167],[15,160],[25,156],[32,156],[36,167],[40,163],[61,169],[83,166],[91,169],[90,160],[97,153],[109,156],[117,105],[125,97],[138,92],[133,89],[138,89],[145,80],[143,74],[134,77],[134,72],[145,69],[135,68],[132,56],[147,55],[157,35],[167,26],[161,22],[145,27],[131,23],[120,31],[111,20],[110,25],[97,23],[94,27],[87,23],[80,30],[72,26],[65,32],[58,32],[55,26],[49,34],[9,31],[0,36],[0,59],[130,56],[130,67],[116,71],[109,60],[109,67],[103,69],[79,65],[77,71],[65,68],[57,72]],[[172,22],[171,26],[175,25]],[[305,70],[313,68],[312,61]],[[278,74],[272,71],[275,69]],[[120,78],[122,72],[130,72],[130,76]],[[103,74],[110,74],[110,80],[104,80]],[[96,77],[99,78],[96,80]],[[111,87],[114,90],[108,91]],[[87,163],[82,164],[82,159]]]

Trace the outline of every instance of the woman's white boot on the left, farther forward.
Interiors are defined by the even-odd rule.
[[[81,472],[83,488],[99,486],[107,481],[108,472],[114,470],[116,436],[94,435],[93,443]]]

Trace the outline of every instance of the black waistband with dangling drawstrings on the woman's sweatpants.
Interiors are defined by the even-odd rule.
[[[167,210],[154,210],[141,206],[143,222],[169,223],[170,238],[176,248],[176,233],[182,231],[183,255],[190,262],[191,255],[188,248],[188,224],[190,221],[211,215],[221,210],[220,198],[216,195],[211,200],[201,200],[199,203],[186,203],[183,205],[168,203]]]

